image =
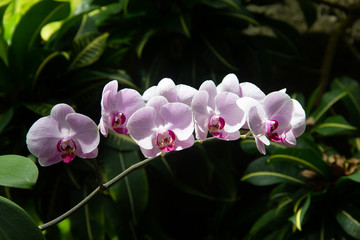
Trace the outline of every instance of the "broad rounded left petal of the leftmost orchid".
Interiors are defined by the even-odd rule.
[[[37,158],[50,158],[57,152],[56,144],[62,138],[58,122],[50,117],[42,117],[29,129],[26,144],[29,151]]]

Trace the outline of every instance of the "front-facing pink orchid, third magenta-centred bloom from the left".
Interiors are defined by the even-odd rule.
[[[144,108],[136,111],[129,119],[128,130],[145,157],[181,150],[194,143],[190,107],[169,103],[163,96],[152,97]]]

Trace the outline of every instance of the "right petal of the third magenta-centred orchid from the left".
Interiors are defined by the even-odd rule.
[[[168,103],[160,109],[166,128],[172,130],[180,141],[188,139],[194,132],[191,108],[184,103]]]

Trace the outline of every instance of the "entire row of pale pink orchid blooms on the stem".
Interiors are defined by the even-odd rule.
[[[241,129],[247,133],[241,135]],[[218,86],[207,80],[198,90],[164,78],[143,95],[127,88],[118,91],[113,80],[102,92],[98,126],[58,104],[50,116],[33,124],[26,141],[40,165],[68,163],[75,156],[97,156],[99,130],[105,137],[109,131],[130,135],[147,158],[189,148],[195,138],[204,141],[208,136],[227,141],[252,136],[266,154],[270,141],[296,145],[305,131],[305,111],[285,89],[265,95],[252,83],[239,83],[234,74]]]

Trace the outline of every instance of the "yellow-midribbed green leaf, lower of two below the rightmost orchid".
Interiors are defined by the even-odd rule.
[[[300,169],[286,163],[268,163],[267,157],[260,157],[249,164],[242,181],[248,181],[257,186],[277,183],[305,184],[300,176]]]

